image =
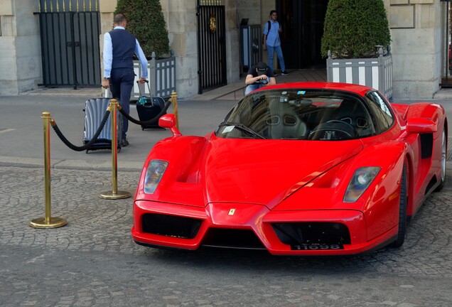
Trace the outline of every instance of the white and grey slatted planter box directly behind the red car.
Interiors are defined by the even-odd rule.
[[[328,82],[343,82],[365,85],[379,90],[392,99],[392,55],[378,58],[333,59],[328,53],[326,60],[326,79]]]

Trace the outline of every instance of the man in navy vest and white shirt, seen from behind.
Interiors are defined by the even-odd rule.
[[[148,61],[135,36],[126,31],[127,18],[117,14],[113,20],[114,29],[104,34],[104,80],[102,87],[110,88],[112,96],[119,99],[121,107],[129,114],[129,102],[134,86],[134,54],[141,64],[139,83],[146,82],[148,77]],[[129,122],[123,117],[122,146],[129,145],[127,130]]]

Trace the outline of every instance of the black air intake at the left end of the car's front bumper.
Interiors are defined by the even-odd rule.
[[[182,239],[193,239],[203,220],[173,215],[146,213],[142,217],[143,232]]]

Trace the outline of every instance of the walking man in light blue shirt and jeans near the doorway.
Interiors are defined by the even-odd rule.
[[[279,66],[281,66],[281,74],[289,75],[289,72],[286,71],[286,64],[284,63],[284,56],[281,50],[281,40],[279,39],[279,33],[282,32],[282,29],[276,18],[278,18],[278,13],[274,10],[270,11],[270,20],[265,23],[264,34],[262,35],[262,49],[269,51],[269,68],[271,70],[273,70],[273,55],[276,52]]]

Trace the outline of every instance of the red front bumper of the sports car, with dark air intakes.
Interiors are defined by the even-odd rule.
[[[267,249],[279,255],[360,254],[388,244],[397,227],[367,241],[357,210],[270,211],[264,205],[211,203],[205,208],[146,200],[134,203],[131,235],[139,244]]]

